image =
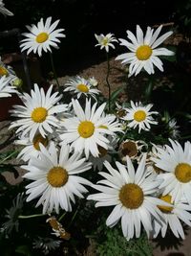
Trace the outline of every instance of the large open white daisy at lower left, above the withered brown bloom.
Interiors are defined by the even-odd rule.
[[[40,158],[32,157],[28,165],[22,166],[29,171],[25,178],[33,180],[26,186],[27,201],[39,198],[36,207],[43,204],[43,213],[59,212],[59,206],[65,211],[72,211],[71,200],[74,195],[83,198],[82,193],[88,192],[82,185],[91,185],[87,179],[78,174],[91,168],[79,153],[70,156],[70,147],[64,145],[57,151],[54,144],[47,151],[40,144]]]

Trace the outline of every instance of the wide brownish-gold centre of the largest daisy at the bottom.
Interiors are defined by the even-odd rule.
[[[142,189],[134,183],[125,184],[119,191],[119,199],[123,206],[138,209],[144,200]]]

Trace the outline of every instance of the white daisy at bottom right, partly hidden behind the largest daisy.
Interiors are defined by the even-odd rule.
[[[153,223],[153,237],[156,238],[161,232],[161,237],[164,238],[166,231],[170,228],[173,234],[177,238],[184,239],[184,231],[182,228],[182,222],[191,226],[191,206],[183,203],[182,201],[174,202],[170,195],[159,197],[160,199],[171,203],[172,206],[159,206],[159,210],[162,212],[163,221],[154,220]]]

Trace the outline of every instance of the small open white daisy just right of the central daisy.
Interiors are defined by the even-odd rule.
[[[150,111],[153,105],[142,105],[140,102],[135,103],[131,101],[131,108],[125,108],[126,115],[122,118],[125,121],[131,121],[128,123],[129,128],[137,128],[138,133],[141,129],[149,130],[150,124],[157,125],[158,122],[154,121],[152,115],[159,114],[157,111]]]

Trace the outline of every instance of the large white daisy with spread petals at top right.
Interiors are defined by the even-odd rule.
[[[162,26],[154,32],[154,29],[147,27],[146,35],[143,35],[142,30],[137,25],[137,35],[134,35],[131,31],[127,31],[127,38],[119,39],[120,45],[127,47],[130,53],[119,55],[116,59],[122,59],[123,64],[130,64],[129,66],[129,77],[138,73],[144,69],[149,75],[154,74],[154,65],[163,71],[162,62],[159,56],[172,56],[174,52],[166,48],[158,48],[168,36],[172,35],[173,32],[167,32],[164,35],[159,36]],[[158,38],[159,36],[159,38]]]

